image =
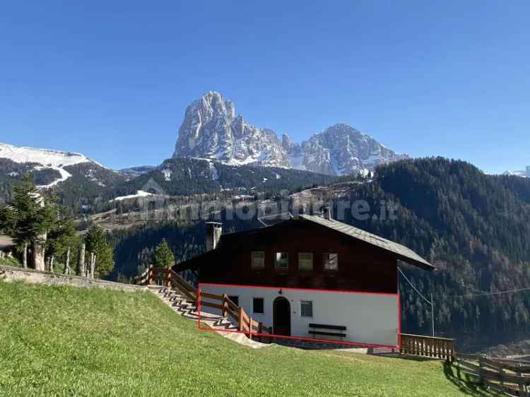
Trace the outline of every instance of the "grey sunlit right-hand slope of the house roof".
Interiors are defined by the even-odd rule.
[[[357,227],[339,222],[338,220],[325,219],[322,218],[322,216],[317,215],[300,215],[300,218],[303,220],[309,220],[310,222],[317,223],[318,225],[322,225],[324,227],[328,227],[329,229],[335,230],[336,232],[341,232],[349,237],[367,242],[368,244],[384,249],[385,251],[389,251],[392,254],[395,254],[397,259],[400,259],[406,263],[410,263],[411,265],[416,265],[429,271],[432,271],[435,268],[428,261],[425,261],[425,259],[416,254],[416,252],[414,252],[412,249],[409,249],[396,242],[392,242],[388,239],[384,239],[383,237],[372,235],[372,233],[365,232],[365,230],[358,229]]]

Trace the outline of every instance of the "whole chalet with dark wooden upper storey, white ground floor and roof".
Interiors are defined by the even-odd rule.
[[[342,340],[396,345],[397,261],[432,270],[400,244],[325,217],[300,215],[227,235],[220,225],[208,227],[208,251],[174,270],[195,271],[203,290],[227,293],[291,336],[311,336],[319,324],[345,328]],[[288,329],[278,324],[278,310]]]

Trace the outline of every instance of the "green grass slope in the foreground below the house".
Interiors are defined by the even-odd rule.
[[[441,362],[252,350],[198,331],[151,292],[0,282],[0,310],[0,396],[473,393]]]

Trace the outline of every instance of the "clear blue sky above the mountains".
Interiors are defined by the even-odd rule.
[[[11,1],[0,142],[155,165],[218,90],[297,140],[344,122],[401,153],[519,170],[529,16],[529,1]]]

